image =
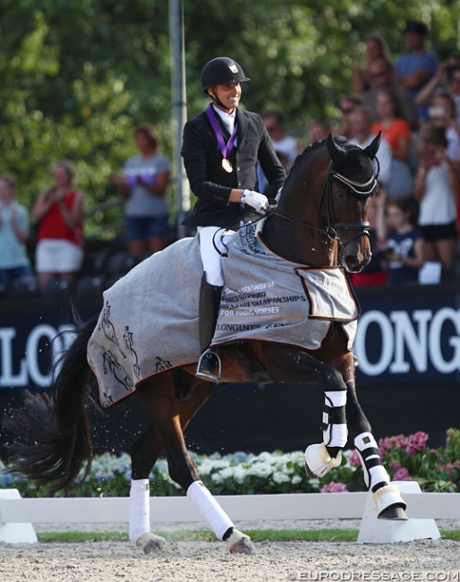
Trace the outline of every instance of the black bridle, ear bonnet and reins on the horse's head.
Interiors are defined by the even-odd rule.
[[[332,162],[332,161],[330,162],[329,169],[328,169],[328,177],[323,185],[323,189],[322,189],[321,195],[319,197],[319,209],[322,208],[324,200],[326,199],[327,215],[328,215],[328,226],[326,228],[314,227],[313,225],[310,225],[306,222],[302,222],[301,220],[287,217],[287,216],[285,216],[285,214],[281,214],[281,212],[278,212],[276,209],[269,210],[267,213],[267,216],[274,215],[274,216],[277,216],[279,218],[284,218],[285,220],[292,222],[296,225],[299,225],[301,227],[310,228],[311,230],[315,230],[323,235],[328,236],[328,238],[331,241],[336,242],[338,244],[339,260],[340,260],[340,262],[342,262],[341,259],[343,257],[344,252],[345,252],[345,248],[348,246],[348,244],[352,244],[356,239],[360,238],[361,236],[367,236],[368,238],[370,238],[369,229],[371,228],[371,223],[368,220],[359,220],[356,222],[352,222],[352,221],[339,222],[339,221],[337,221],[336,212],[334,210],[334,201],[333,201],[333,196],[332,196],[332,180],[336,179],[339,182],[342,182],[342,184],[345,184],[345,186],[348,188],[348,190],[350,190],[354,194],[355,198],[357,198],[358,200],[360,200],[360,199],[365,200],[365,199],[369,198],[370,196],[372,196],[374,193],[376,193],[378,188],[379,188],[379,184],[377,182],[377,177],[379,175],[379,169],[380,169],[379,168],[379,160],[377,158],[375,158],[375,159],[377,160],[378,172],[376,175],[372,175],[371,179],[368,180],[364,184],[359,183],[359,182],[354,182],[353,180],[350,180],[349,178],[345,177],[345,175],[339,174],[334,169],[334,162]],[[349,239],[347,239],[344,243],[341,236],[337,232],[340,230],[345,230],[347,232],[351,231],[351,232],[355,232],[356,234],[354,236],[350,237]]]

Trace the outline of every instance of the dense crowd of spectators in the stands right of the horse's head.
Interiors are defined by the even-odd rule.
[[[371,263],[355,287],[456,278],[460,218],[460,56],[440,63],[422,21],[405,27],[392,60],[385,39],[364,41],[336,119],[313,120],[308,141],[332,132],[366,147],[381,132],[379,193],[371,200]]]

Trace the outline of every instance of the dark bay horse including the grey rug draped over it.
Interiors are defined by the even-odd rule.
[[[322,441],[305,451],[307,473],[321,477],[338,466],[350,438],[379,518],[405,519],[405,501],[389,484],[358,403],[351,351],[359,308],[346,273],[362,270],[371,257],[368,212],[378,188],[372,167],[378,148],[379,137],[362,150],[329,135],[302,152],[277,208],[263,225],[241,228],[229,245],[214,341],[222,381],[319,383]],[[183,441],[183,430],[212,390],[211,382],[194,375],[201,270],[196,238],[183,239],[107,289],[99,321],[81,327],[55,379],[55,434],[39,447],[17,447],[18,472],[66,487],[91,458],[86,401],[94,376],[102,406],[130,394],[139,398],[152,424],[132,447],[130,538],[145,552],[165,543],[150,533],[148,509],[149,473],[162,449],[171,477],[217,537],[231,552],[252,551],[248,536],[200,482]],[[33,402],[29,410],[33,419]],[[33,421],[27,409],[24,415],[27,434]],[[21,415],[10,428],[21,432]]]

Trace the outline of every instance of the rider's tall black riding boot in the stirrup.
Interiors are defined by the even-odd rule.
[[[200,287],[200,349],[196,375],[218,381],[220,378],[220,358],[217,349],[211,349],[210,343],[216,330],[217,315],[220,305],[222,287],[209,285],[206,273],[201,278]]]

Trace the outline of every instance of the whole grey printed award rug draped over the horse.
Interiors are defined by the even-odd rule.
[[[359,307],[344,270],[285,261],[254,226],[241,228],[222,258],[222,291],[213,345],[259,340],[318,349],[331,321],[353,347]],[[110,407],[159,372],[200,357],[198,236],[141,262],[104,293],[88,361],[99,399]]]

